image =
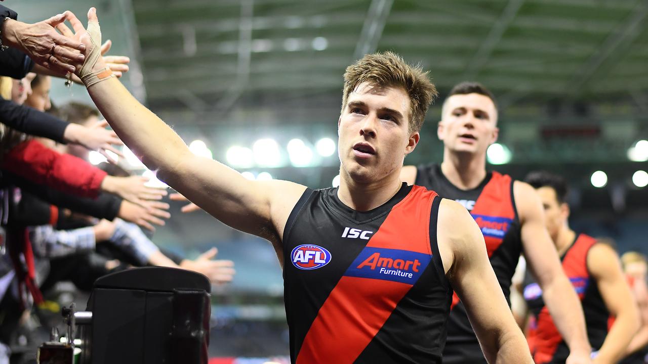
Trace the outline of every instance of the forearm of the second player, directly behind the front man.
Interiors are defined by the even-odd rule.
[[[551,282],[544,284],[542,298],[547,302],[553,322],[570,350],[590,352],[583,307],[567,277],[557,275]]]

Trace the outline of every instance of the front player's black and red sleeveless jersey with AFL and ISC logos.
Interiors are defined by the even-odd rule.
[[[452,293],[435,192],[403,184],[359,212],[307,189],[283,237],[292,363],[441,363]]]

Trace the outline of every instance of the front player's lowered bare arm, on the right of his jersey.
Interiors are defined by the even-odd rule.
[[[533,363],[526,339],[515,323],[492,271],[480,228],[459,203],[443,199],[439,207],[439,249],[452,287],[466,306],[470,324],[489,363]],[[441,245],[450,247],[450,251]]]

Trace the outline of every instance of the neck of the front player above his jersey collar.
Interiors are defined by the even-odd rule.
[[[344,173],[340,173],[338,198],[356,211],[369,211],[379,207],[397,194],[402,185],[398,173],[371,183],[359,183],[349,176],[342,177]]]

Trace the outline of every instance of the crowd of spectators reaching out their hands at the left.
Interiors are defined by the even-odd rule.
[[[68,16],[27,24],[0,6],[0,364],[35,362],[38,343],[21,333],[43,310],[60,310],[48,299],[58,282],[89,291],[98,277],[139,266],[191,269],[213,284],[234,274],[215,248],[189,260],[154,244],[155,226],[170,218],[167,190],[117,163],[122,142],[97,109],[54,106],[52,77],[80,82],[71,64],[84,58],[82,43],[56,31]],[[110,46],[101,55],[121,76],[129,60],[106,55]],[[91,151],[109,163],[91,165]]]

